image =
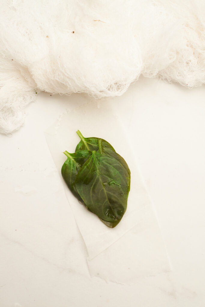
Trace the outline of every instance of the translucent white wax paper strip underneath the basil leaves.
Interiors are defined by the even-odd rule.
[[[100,137],[108,141],[124,157],[131,171],[127,211],[115,228],[108,228],[80,204],[62,180],[88,250],[91,276],[131,283],[170,270],[159,224],[136,164],[136,153],[130,142],[131,134],[129,132],[128,137],[128,131],[116,115],[112,103],[105,100],[88,102],[85,99],[80,107],[65,111],[45,131],[59,173],[66,160],[62,152],[74,152],[80,141],[77,130],[85,137]]]

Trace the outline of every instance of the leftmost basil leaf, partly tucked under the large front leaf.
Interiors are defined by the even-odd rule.
[[[76,196],[78,200],[82,201],[75,188],[75,178],[78,171],[91,156],[92,152],[89,150],[79,150],[75,153],[64,151],[64,154],[67,156],[67,160],[61,168],[62,177],[73,195]]]

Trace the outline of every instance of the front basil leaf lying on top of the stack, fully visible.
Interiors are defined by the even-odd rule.
[[[85,205],[101,220],[120,221],[127,208],[130,172],[110,155],[92,151],[78,171],[75,187]]]

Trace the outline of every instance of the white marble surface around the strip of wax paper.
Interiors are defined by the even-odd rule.
[[[43,131],[79,94],[41,93],[25,125],[0,135],[1,307],[205,305],[205,87],[140,78],[116,112],[135,131],[136,156],[172,271],[135,285],[90,277],[85,243]]]

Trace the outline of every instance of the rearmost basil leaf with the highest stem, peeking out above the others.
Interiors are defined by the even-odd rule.
[[[84,138],[79,130],[76,131],[77,135],[81,138],[81,141],[77,144],[75,151],[78,150],[98,150],[98,140],[99,138]],[[115,151],[112,145],[107,141],[102,139],[102,144],[104,148]]]

